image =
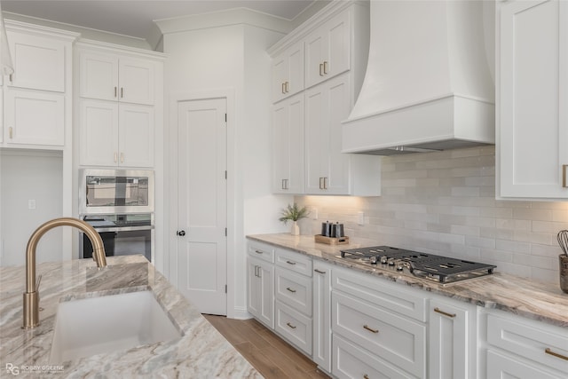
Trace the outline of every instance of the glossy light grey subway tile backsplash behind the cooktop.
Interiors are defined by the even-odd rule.
[[[338,221],[355,243],[465,258],[558,282],[556,233],[568,229],[568,201],[496,200],[493,146],[384,157],[382,171],[380,197],[296,196],[318,212],[300,221],[302,234]]]

